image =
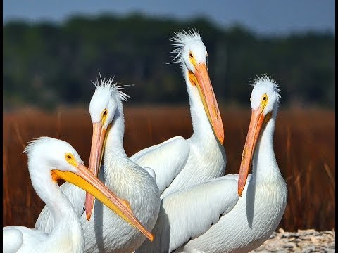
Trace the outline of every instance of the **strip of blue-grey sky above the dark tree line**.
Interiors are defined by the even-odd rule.
[[[334,32],[334,5],[334,0],[5,0],[3,21],[20,18],[32,22],[62,22],[75,13],[125,15],[138,11],[181,20],[204,15],[220,27],[239,23],[259,34],[289,34],[308,30]]]

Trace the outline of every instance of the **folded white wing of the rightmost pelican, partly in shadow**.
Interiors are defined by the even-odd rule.
[[[137,252],[172,252],[206,233],[238,199],[237,180],[227,176],[171,193],[161,201],[154,242],[145,241]]]

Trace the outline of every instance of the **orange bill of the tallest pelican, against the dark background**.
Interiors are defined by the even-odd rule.
[[[213,92],[213,86],[209,78],[208,70],[204,63],[199,63],[196,66],[196,79],[197,79],[197,88],[199,89],[199,94],[204,105],[204,110],[206,110],[206,115],[208,116],[211,126],[213,126],[213,131],[215,132],[218,141],[223,145],[224,142],[224,129],[222,118],[220,117],[220,110],[218,109],[217,100],[215,98],[215,93]]]

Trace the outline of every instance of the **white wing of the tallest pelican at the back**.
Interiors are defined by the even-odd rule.
[[[170,138],[158,145],[145,148],[132,155],[130,160],[140,167],[150,167],[155,171],[156,183],[160,193],[170,186],[177,174],[182,171],[189,157],[189,144],[181,136]]]

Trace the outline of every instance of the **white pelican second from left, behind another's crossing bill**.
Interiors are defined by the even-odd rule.
[[[89,159],[89,169],[94,175],[100,172],[99,178],[108,188],[130,203],[134,214],[149,231],[154,227],[160,209],[160,195],[154,171],[153,174],[139,167],[130,160],[123,148],[125,131],[123,105],[126,95],[112,84],[113,79],[96,81],[96,90],[90,101],[89,112],[93,123],[92,150]],[[102,153],[104,153],[104,167],[99,171]],[[85,252],[132,252],[142,245],[146,239],[129,224],[111,212],[100,202],[95,202],[94,215],[87,221],[83,213],[85,193],[64,183],[61,186],[74,205],[85,235]],[[92,214],[92,203],[87,203],[87,217]],[[49,216],[49,210],[44,207],[36,228],[51,231],[54,221]],[[149,239],[152,240],[151,236]]]

